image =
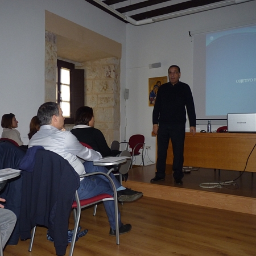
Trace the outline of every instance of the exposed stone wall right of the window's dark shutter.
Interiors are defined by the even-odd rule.
[[[85,69],[85,106],[93,108],[95,127],[109,145],[119,141],[120,60],[109,57],[86,61],[80,68]]]

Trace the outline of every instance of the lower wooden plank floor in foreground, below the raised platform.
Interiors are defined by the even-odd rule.
[[[95,217],[92,208],[83,210],[80,224],[89,232],[79,238],[73,255],[255,256],[254,215],[150,197],[119,205],[119,209],[122,221],[133,225],[131,232],[120,236],[120,245],[108,234],[108,220],[101,204]],[[72,216],[70,220],[72,224]],[[28,243],[29,240],[7,245],[4,255],[55,255],[53,243],[46,240],[46,228],[38,228],[31,253],[27,251]],[[68,252],[69,246],[66,255]]]

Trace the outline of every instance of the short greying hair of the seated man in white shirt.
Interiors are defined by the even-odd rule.
[[[59,116],[59,105],[55,102],[46,102],[38,109],[39,126],[51,125],[53,115]]]

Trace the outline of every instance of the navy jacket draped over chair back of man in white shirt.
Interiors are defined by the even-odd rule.
[[[31,228],[44,225],[54,239],[56,254],[65,255],[69,214],[79,185],[80,177],[67,160],[37,150],[34,171],[23,172],[20,238],[31,238]]]

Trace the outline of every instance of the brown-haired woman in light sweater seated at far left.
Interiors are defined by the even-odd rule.
[[[3,127],[3,132],[1,135],[2,138],[12,139],[18,143],[19,146],[23,145],[23,142],[20,138],[20,133],[15,129],[18,127],[18,120],[16,120],[14,114],[4,114],[2,116],[1,126]]]

